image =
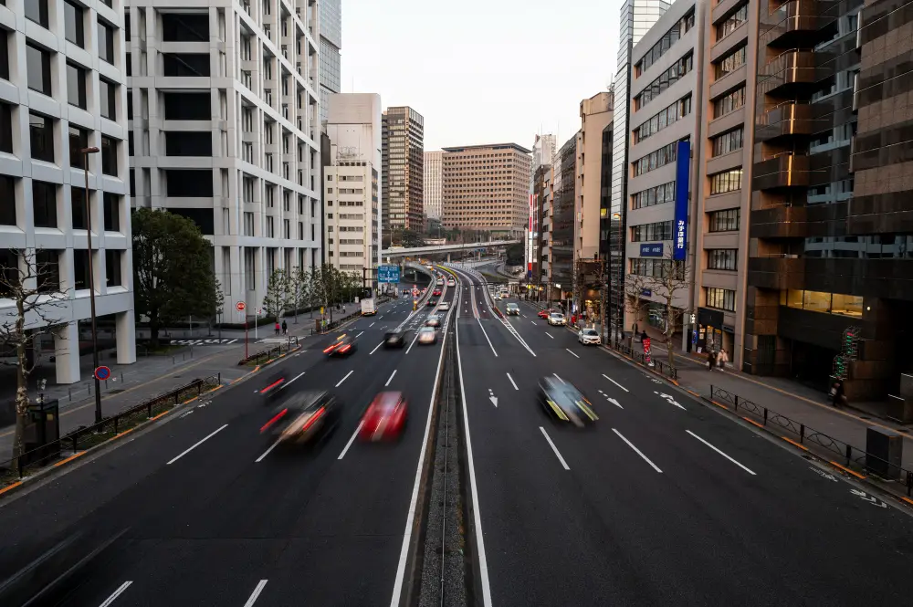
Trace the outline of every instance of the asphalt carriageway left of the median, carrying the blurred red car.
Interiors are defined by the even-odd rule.
[[[389,604],[443,350],[440,341],[376,346],[431,311],[413,314],[411,298],[386,304],[341,330],[359,336],[351,357],[325,359],[336,334],[309,340],[192,413],[5,503],[0,580],[58,539],[123,532],[60,604]],[[260,434],[270,409],[254,392],[277,374],[288,390],[331,389],[344,403],[338,430],[316,448],[270,450]],[[351,440],[383,390],[410,400],[402,441]]]

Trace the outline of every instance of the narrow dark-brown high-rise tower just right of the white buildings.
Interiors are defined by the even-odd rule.
[[[425,119],[408,106],[383,112],[383,233],[421,232],[425,195]]]

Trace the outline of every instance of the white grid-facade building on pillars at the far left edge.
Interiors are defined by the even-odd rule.
[[[90,288],[97,316],[114,320],[117,361],[136,361],[123,12],[63,0],[16,5],[22,14],[0,9],[0,268],[7,284],[39,274],[53,303],[26,328],[57,327],[38,339],[54,342],[41,347],[54,351],[57,382],[73,383],[90,334]],[[88,204],[87,148],[100,150],[88,154]],[[8,295],[0,285],[0,323],[17,318]]]

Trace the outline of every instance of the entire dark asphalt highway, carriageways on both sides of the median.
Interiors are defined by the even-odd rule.
[[[440,297],[450,310],[436,345],[415,341],[436,308],[384,304],[341,329],[358,336],[351,357],[323,355],[338,333],[306,340],[288,360],[0,504],[0,581],[62,539],[88,538],[87,552],[108,547],[59,604],[401,604],[452,345],[478,604],[890,605],[913,595],[908,514],[582,346],[530,304],[500,318],[480,275],[447,272],[456,287]],[[408,340],[387,350],[383,334],[395,327]],[[277,374],[283,390],[329,389],[343,401],[340,426],[318,448],[273,449],[260,433],[271,410],[257,391]],[[598,422],[553,423],[536,403],[544,376],[580,388]],[[383,390],[407,395],[411,421],[397,444],[363,444],[362,411]]]

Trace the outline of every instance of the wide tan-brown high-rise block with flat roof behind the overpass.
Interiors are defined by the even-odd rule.
[[[444,148],[444,227],[522,237],[530,162],[530,150],[516,143]]]

